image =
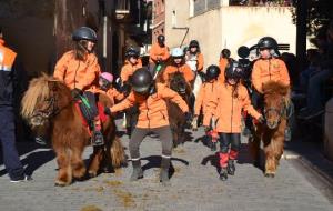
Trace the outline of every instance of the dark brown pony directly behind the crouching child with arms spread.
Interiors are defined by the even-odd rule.
[[[183,100],[190,105],[191,87],[188,84],[182,72],[173,72],[169,74],[167,86],[178,92]],[[186,120],[182,110],[173,102],[167,101],[170,128],[173,135],[173,145],[176,147],[184,142]]]

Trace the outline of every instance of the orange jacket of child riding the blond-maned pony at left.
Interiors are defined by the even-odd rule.
[[[87,54],[85,61],[74,58],[73,51],[65,52],[56,64],[54,78],[63,81],[70,89],[90,90],[98,86],[101,73],[95,54]]]

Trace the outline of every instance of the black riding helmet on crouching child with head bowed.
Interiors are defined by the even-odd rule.
[[[140,68],[131,76],[130,82],[134,92],[147,93],[153,83],[153,78],[147,68]]]

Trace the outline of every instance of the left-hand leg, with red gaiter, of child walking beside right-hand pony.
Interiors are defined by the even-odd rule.
[[[220,134],[220,167],[221,167],[221,172],[220,172],[220,179],[222,181],[228,179],[228,160],[229,160],[229,145],[230,145],[230,135],[229,133],[219,133]]]

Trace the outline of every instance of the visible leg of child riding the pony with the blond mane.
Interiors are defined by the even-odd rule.
[[[92,92],[85,91],[84,96],[87,97],[90,105],[90,114],[88,117],[89,124],[91,125],[91,130],[93,131],[92,135],[92,144],[93,145],[102,145],[104,144],[104,138],[102,134],[102,124],[99,117],[99,111],[97,108],[95,96]]]

